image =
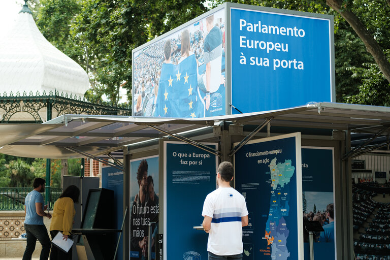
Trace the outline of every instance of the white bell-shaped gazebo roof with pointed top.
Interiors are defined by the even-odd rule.
[[[45,39],[26,4],[8,35],[0,37],[0,79],[0,93],[84,95],[89,87],[84,69]]]

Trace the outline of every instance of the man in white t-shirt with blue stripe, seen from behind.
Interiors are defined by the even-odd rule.
[[[209,233],[209,260],[242,259],[242,227],[248,225],[244,197],[230,186],[233,165],[223,161],[218,167],[218,189],[209,193],[203,205],[203,229]]]

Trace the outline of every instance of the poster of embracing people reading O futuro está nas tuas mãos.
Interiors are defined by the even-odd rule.
[[[148,259],[148,225],[158,216],[158,156],[130,160],[130,259]],[[152,253],[158,226],[152,225]]]

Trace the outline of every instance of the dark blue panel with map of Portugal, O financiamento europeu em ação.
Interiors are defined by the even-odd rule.
[[[250,141],[234,165],[249,212],[243,259],[302,259],[301,134]]]

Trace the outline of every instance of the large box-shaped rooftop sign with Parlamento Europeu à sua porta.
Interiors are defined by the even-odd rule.
[[[225,3],[133,50],[133,116],[334,102],[333,45],[333,16]]]

